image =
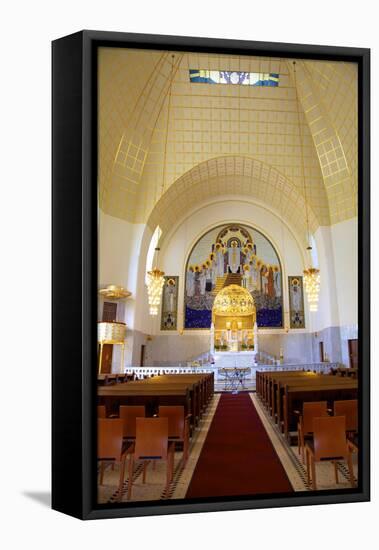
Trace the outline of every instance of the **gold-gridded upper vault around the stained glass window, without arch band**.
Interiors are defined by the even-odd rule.
[[[167,121],[171,63],[169,52],[109,50],[100,58],[100,110],[104,111],[100,117],[100,203],[105,212],[145,222],[173,182],[199,163],[225,155],[243,155],[271,165],[299,194],[303,193],[296,91],[288,61],[176,53]],[[351,85],[354,67],[344,64],[352,75],[347,78],[350,93],[345,105],[345,72],[339,66],[337,71],[334,65],[338,64],[303,63],[303,74],[298,78],[306,194],[317,225],[341,221],[355,213],[351,185],[357,156],[356,90],[354,95]],[[280,85],[191,84],[190,68],[278,72]],[[306,82],[313,84],[313,103],[305,91]],[[333,112],[330,127],[338,128],[338,142],[330,135],[329,141],[316,135],[322,129],[319,108],[314,107],[318,90],[323,93],[322,113]],[[347,114],[351,123],[344,120]],[[343,161],[350,175],[343,176]]]

